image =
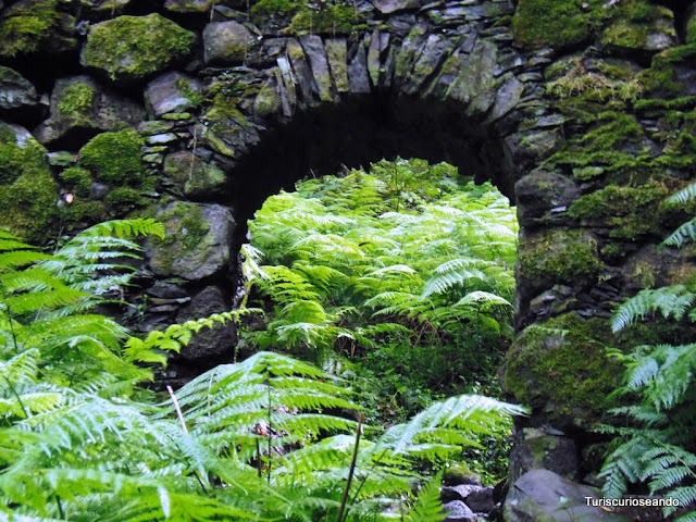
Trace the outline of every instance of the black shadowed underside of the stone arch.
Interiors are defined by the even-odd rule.
[[[335,174],[344,166],[366,167],[396,157],[447,161],[477,183],[492,181],[514,203],[513,179],[490,125],[439,100],[353,95],[337,104],[298,112],[289,123],[264,134],[233,170],[235,248],[245,240],[247,220],[269,196],[293,190],[306,176]]]

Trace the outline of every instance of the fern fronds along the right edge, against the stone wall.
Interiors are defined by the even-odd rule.
[[[694,198],[696,185],[691,185],[670,202],[684,204]],[[681,247],[695,239],[696,217],[666,244]],[[648,316],[694,323],[695,304],[694,284],[645,289],[619,308],[613,330]],[[678,511],[679,522],[696,522],[696,344],[641,346],[629,355],[613,355],[626,364],[625,384],[617,391],[637,396],[638,401],[614,410],[629,426],[605,428],[617,435],[617,447],[602,470],[605,492],[618,497],[630,483],[647,482],[650,493],[679,500],[681,509],[664,508],[666,517]]]

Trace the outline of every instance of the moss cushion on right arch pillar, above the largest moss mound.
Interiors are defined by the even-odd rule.
[[[547,231],[520,245],[521,275],[531,279],[574,283],[602,269],[597,240],[583,231]]]

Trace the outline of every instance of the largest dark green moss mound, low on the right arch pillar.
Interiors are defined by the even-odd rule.
[[[554,425],[599,423],[617,406],[609,394],[623,374],[607,348],[625,345],[625,337],[614,337],[606,320],[585,321],[575,313],[530,326],[508,353],[504,388],[543,410]]]

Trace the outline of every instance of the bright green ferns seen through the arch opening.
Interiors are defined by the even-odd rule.
[[[400,405],[494,389],[518,227],[490,184],[446,163],[382,161],[269,198],[249,228],[247,276],[268,311],[252,344],[360,360]]]

